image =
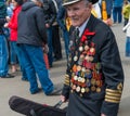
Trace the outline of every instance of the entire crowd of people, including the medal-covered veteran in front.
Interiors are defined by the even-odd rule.
[[[109,26],[121,23],[125,17],[126,55],[130,56],[130,7],[127,2],[12,0],[5,4],[0,0],[0,78],[14,77],[9,74],[9,38],[12,73],[17,70],[18,62],[22,79],[29,81],[31,94],[41,90],[39,78],[44,94],[62,94],[63,102],[69,100],[66,116],[117,116],[123,70]],[[6,28],[10,36],[5,35]],[[43,54],[48,54],[49,67],[53,67],[53,62],[63,57],[61,35],[67,61],[63,91],[50,79],[43,59]]]

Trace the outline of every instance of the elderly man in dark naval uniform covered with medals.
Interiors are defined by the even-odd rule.
[[[91,14],[98,0],[64,0],[72,20],[70,54],[61,95],[66,116],[117,116],[123,70],[114,33]]]

